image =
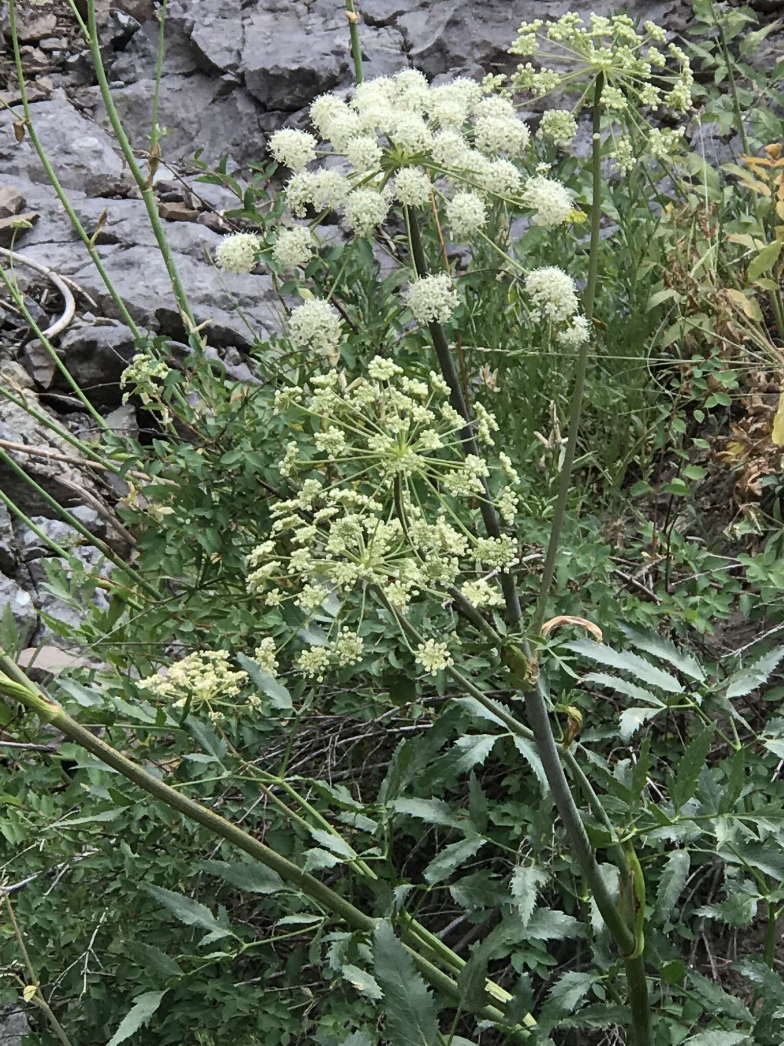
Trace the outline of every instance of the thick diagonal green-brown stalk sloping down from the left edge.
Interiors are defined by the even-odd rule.
[[[282,857],[264,843],[244,832],[240,827],[227,821],[207,806],[189,799],[176,789],[159,780],[146,770],[137,766],[100,737],[83,727],[75,720],[48,698],[44,691],[32,683],[22,669],[6,655],[0,654],[0,693],[5,693],[20,701],[26,708],[36,712],[43,722],[49,723],[61,730],[74,744],[91,752],[108,767],[122,774],[123,777],[137,784],[156,799],[165,802],[188,820],[195,821],[213,835],[225,839],[232,846],[248,854],[254,860],[277,872],[284,882],[291,883],[302,890],[313,901],[323,906],[355,930],[372,933],[377,919],[366,915],[363,911],[330,889],[320,880],[303,871],[294,862]],[[443,992],[455,1001],[460,1001],[463,993],[457,982],[443,971],[435,967],[429,959],[415,950],[403,946],[422,976],[436,988]],[[504,1014],[495,1006],[487,1005],[481,1008],[481,1015],[493,1024],[504,1024]],[[528,1032],[520,1028],[513,1034],[515,1042],[523,1043]]]

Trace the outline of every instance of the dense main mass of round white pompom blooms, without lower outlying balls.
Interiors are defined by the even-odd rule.
[[[491,90],[465,77],[431,87],[422,73],[406,69],[360,84],[348,101],[321,95],[310,120],[351,169],[306,170],[317,138],[278,132],[270,147],[294,172],[289,206],[297,217],[308,206],[341,210],[355,235],[370,236],[393,205],[429,207],[457,192],[462,200],[449,223],[456,235],[470,235],[484,224],[485,198],[518,201],[523,178],[513,161],[530,142],[514,106]]]

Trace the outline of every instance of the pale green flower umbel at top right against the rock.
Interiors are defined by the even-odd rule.
[[[530,90],[539,97],[554,90],[576,92],[580,106],[591,101],[592,84],[601,74],[602,106],[624,127],[623,134],[615,135],[620,143],[615,160],[625,174],[635,165],[625,130],[635,112],[641,107],[665,106],[675,113],[687,113],[692,105],[694,75],[689,58],[676,44],[669,44],[666,51],[658,46],[666,41],[661,26],[647,21],[638,30],[626,15],[591,15],[584,21],[581,15],[570,13],[551,22],[535,19],[521,25],[510,53],[523,58],[547,53],[556,59],[558,69],[536,68],[527,62],[517,67],[512,83],[518,90]],[[574,135],[573,117],[573,113],[562,110],[546,113],[539,133],[562,144]],[[661,132],[653,129],[647,144],[638,152],[666,159],[675,144],[675,138],[662,138]]]

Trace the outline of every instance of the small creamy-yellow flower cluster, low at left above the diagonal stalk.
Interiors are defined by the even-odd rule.
[[[247,672],[233,672],[227,651],[194,651],[175,662],[166,675],[140,679],[138,685],[157,698],[182,708],[188,702],[193,711],[206,708],[213,723],[224,719],[222,707],[234,708],[236,698],[248,682]]]

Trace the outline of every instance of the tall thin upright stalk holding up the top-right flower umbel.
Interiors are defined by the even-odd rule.
[[[591,208],[591,248],[589,254],[589,274],[583,295],[585,318],[590,321],[594,315],[594,302],[596,300],[596,285],[599,273],[599,245],[601,241],[601,198],[602,198],[602,161],[601,161],[601,96],[604,89],[604,75],[599,73],[596,78],[596,89],[594,92],[594,141],[593,141],[593,168],[594,168],[594,201]],[[563,530],[563,521],[567,515],[567,501],[572,485],[572,469],[577,450],[577,434],[580,428],[580,414],[582,412],[582,396],[585,387],[585,371],[587,369],[587,359],[591,349],[591,340],[580,345],[577,356],[577,366],[574,377],[574,388],[572,391],[572,404],[569,411],[569,438],[567,449],[563,454],[563,464],[558,476],[558,494],[555,501],[555,511],[553,514],[553,526],[550,531],[550,542],[548,544],[545,566],[541,571],[541,586],[539,596],[536,600],[536,609],[533,615],[532,634],[538,635],[545,622],[547,614],[547,604],[550,597],[550,589],[555,575],[555,565],[558,559],[558,546],[560,536]]]

